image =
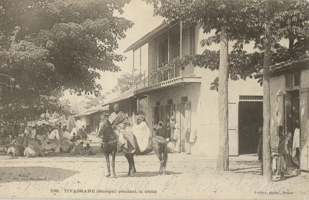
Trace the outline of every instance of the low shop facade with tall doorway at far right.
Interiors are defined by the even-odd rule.
[[[308,165],[308,98],[309,98],[309,59],[298,58],[270,66],[270,144],[276,137],[277,126],[283,126],[283,134],[287,139],[287,169],[295,171],[309,170]],[[255,77],[261,77],[260,72]],[[293,141],[294,132],[299,120],[299,144]],[[299,146],[299,163],[293,161],[293,144]]]

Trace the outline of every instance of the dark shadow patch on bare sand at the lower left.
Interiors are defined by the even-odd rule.
[[[0,167],[0,183],[21,181],[63,181],[78,171],[53,167]]]

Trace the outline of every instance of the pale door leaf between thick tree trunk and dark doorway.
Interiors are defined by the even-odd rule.
[[[228,104],[228,134],[229,134],[229,155],[238,156],[238,108],[236,103]]]

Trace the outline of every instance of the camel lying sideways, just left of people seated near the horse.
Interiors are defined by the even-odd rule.
[[[55,153],[74,153],[74,147],[76,147],[74,142],[71,142],[68,138],[62,138],[60,140],[50,140],[45,137],[42,141],[41,148],[46,151],[54,151]]]

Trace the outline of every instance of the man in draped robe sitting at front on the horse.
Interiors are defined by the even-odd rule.
[[[119,105],[114,105],[114,111],[108,118],[112,125],[112,129],[116,133],[120,145],[128,152],[135,152],[135,143],[130,122],[125,113],[119,111]],[[128,142],[131,145],[128,145]]]

